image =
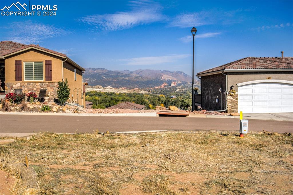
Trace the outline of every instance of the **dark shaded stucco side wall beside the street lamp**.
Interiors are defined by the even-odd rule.
[[[202,76],[201,80],[201,95],[202,95],[202,108],[206,110],[222,110],[225,102],[225,86],[226,76],[223,74],[213,74],[209,76]],[[219,88],[222,88],[222,94],[219,92]],[[216,103],[216,99],[219,99],[219,103]],[[221,107],[222,96],[222,107]]]

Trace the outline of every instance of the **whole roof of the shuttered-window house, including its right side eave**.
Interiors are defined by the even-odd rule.
[[[61,58],[67,58],[67,60],[69,62],[71,62],[71,64],[73,66],[75,66],[76,68],[78,68],[82,71],[85,71],[85,69],[83,67],[79,66],[73,60],[68,58],[66,54],[63,54],[63,53],[60,53],[57,51],[53,51],[50,49],[46,49],[44,47],[40,47],[39,45],[34,45],[34,44],[25,45],[25,44],[16,43],[13,41],[1,41],[0,42],[0,58],[4,58],[5,56],[9,56],[10,54],[13,55],[16,52],[21,52],[22,50],[29,50],[29,49],[37,49],[37,50],[41,50],[46,53],[57,55]]]

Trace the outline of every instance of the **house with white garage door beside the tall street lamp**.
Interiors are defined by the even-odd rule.
[[[293,112],[293,57],[247,57],[197,73],[206,110],[243,113]]]

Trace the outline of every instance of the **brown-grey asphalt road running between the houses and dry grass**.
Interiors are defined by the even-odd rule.
[[[83,133],[139,130],[235,130],[239,119],[141,116],[0,115],[0,133]],[[293,133],[293,122],[249,120],[248,130]]]

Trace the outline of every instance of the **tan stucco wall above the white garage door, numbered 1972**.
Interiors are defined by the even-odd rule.
[[[243,83],[246,81],[263,80],[268,77],[278,80],[293,81],[293,72],[228,72],[228,90],[230,86],[234,86],[234,90],[237,92],[237,83]]]

